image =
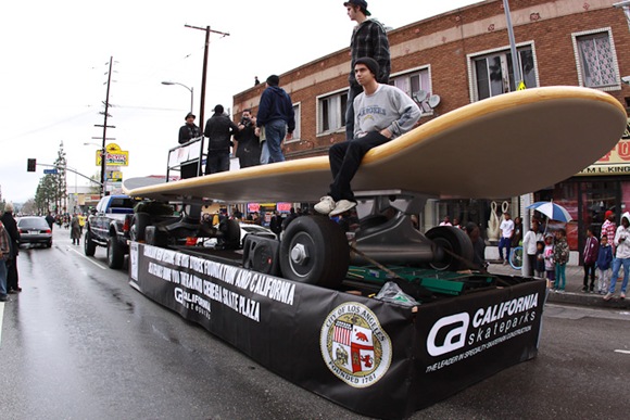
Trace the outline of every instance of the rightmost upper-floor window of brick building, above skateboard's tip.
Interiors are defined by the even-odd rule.
[[[579,85],[619,88],[619,66],[609,29],[574,34]]]

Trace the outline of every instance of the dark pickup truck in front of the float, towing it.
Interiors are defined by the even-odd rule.
[[[106,195],[86,222],[84,251],[93,256],[97,246],[106,246],[110,268],[122,268],[129,253],[129,228],[136,201],[128,195]]]

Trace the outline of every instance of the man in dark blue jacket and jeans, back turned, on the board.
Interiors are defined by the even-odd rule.
[[[295,114],[291,97],[280,88],[280,78],[276,75],[267,77],[267,88],[261,96],[259,114],[256,115],[256,136],[264,127],[264,139],[261,151],[261,164],[284,162],[282,140],[291,140],[295,129]],[[263,137],[261,137],[263,141]]]

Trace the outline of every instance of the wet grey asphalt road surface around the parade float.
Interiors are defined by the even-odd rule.
[[[131,289],[68,231],[18,257],[2,305],[2,419],[354,419]],[[414,419],[626,419],[630,314],[547,305],[539,356]]]

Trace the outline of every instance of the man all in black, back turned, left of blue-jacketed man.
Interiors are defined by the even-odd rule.
[[[223,105],[216,105],[203,130],[203,136],[207,137],[205,175],[229,170],[231,136],[238,132],[238,127],[223,111]]]

